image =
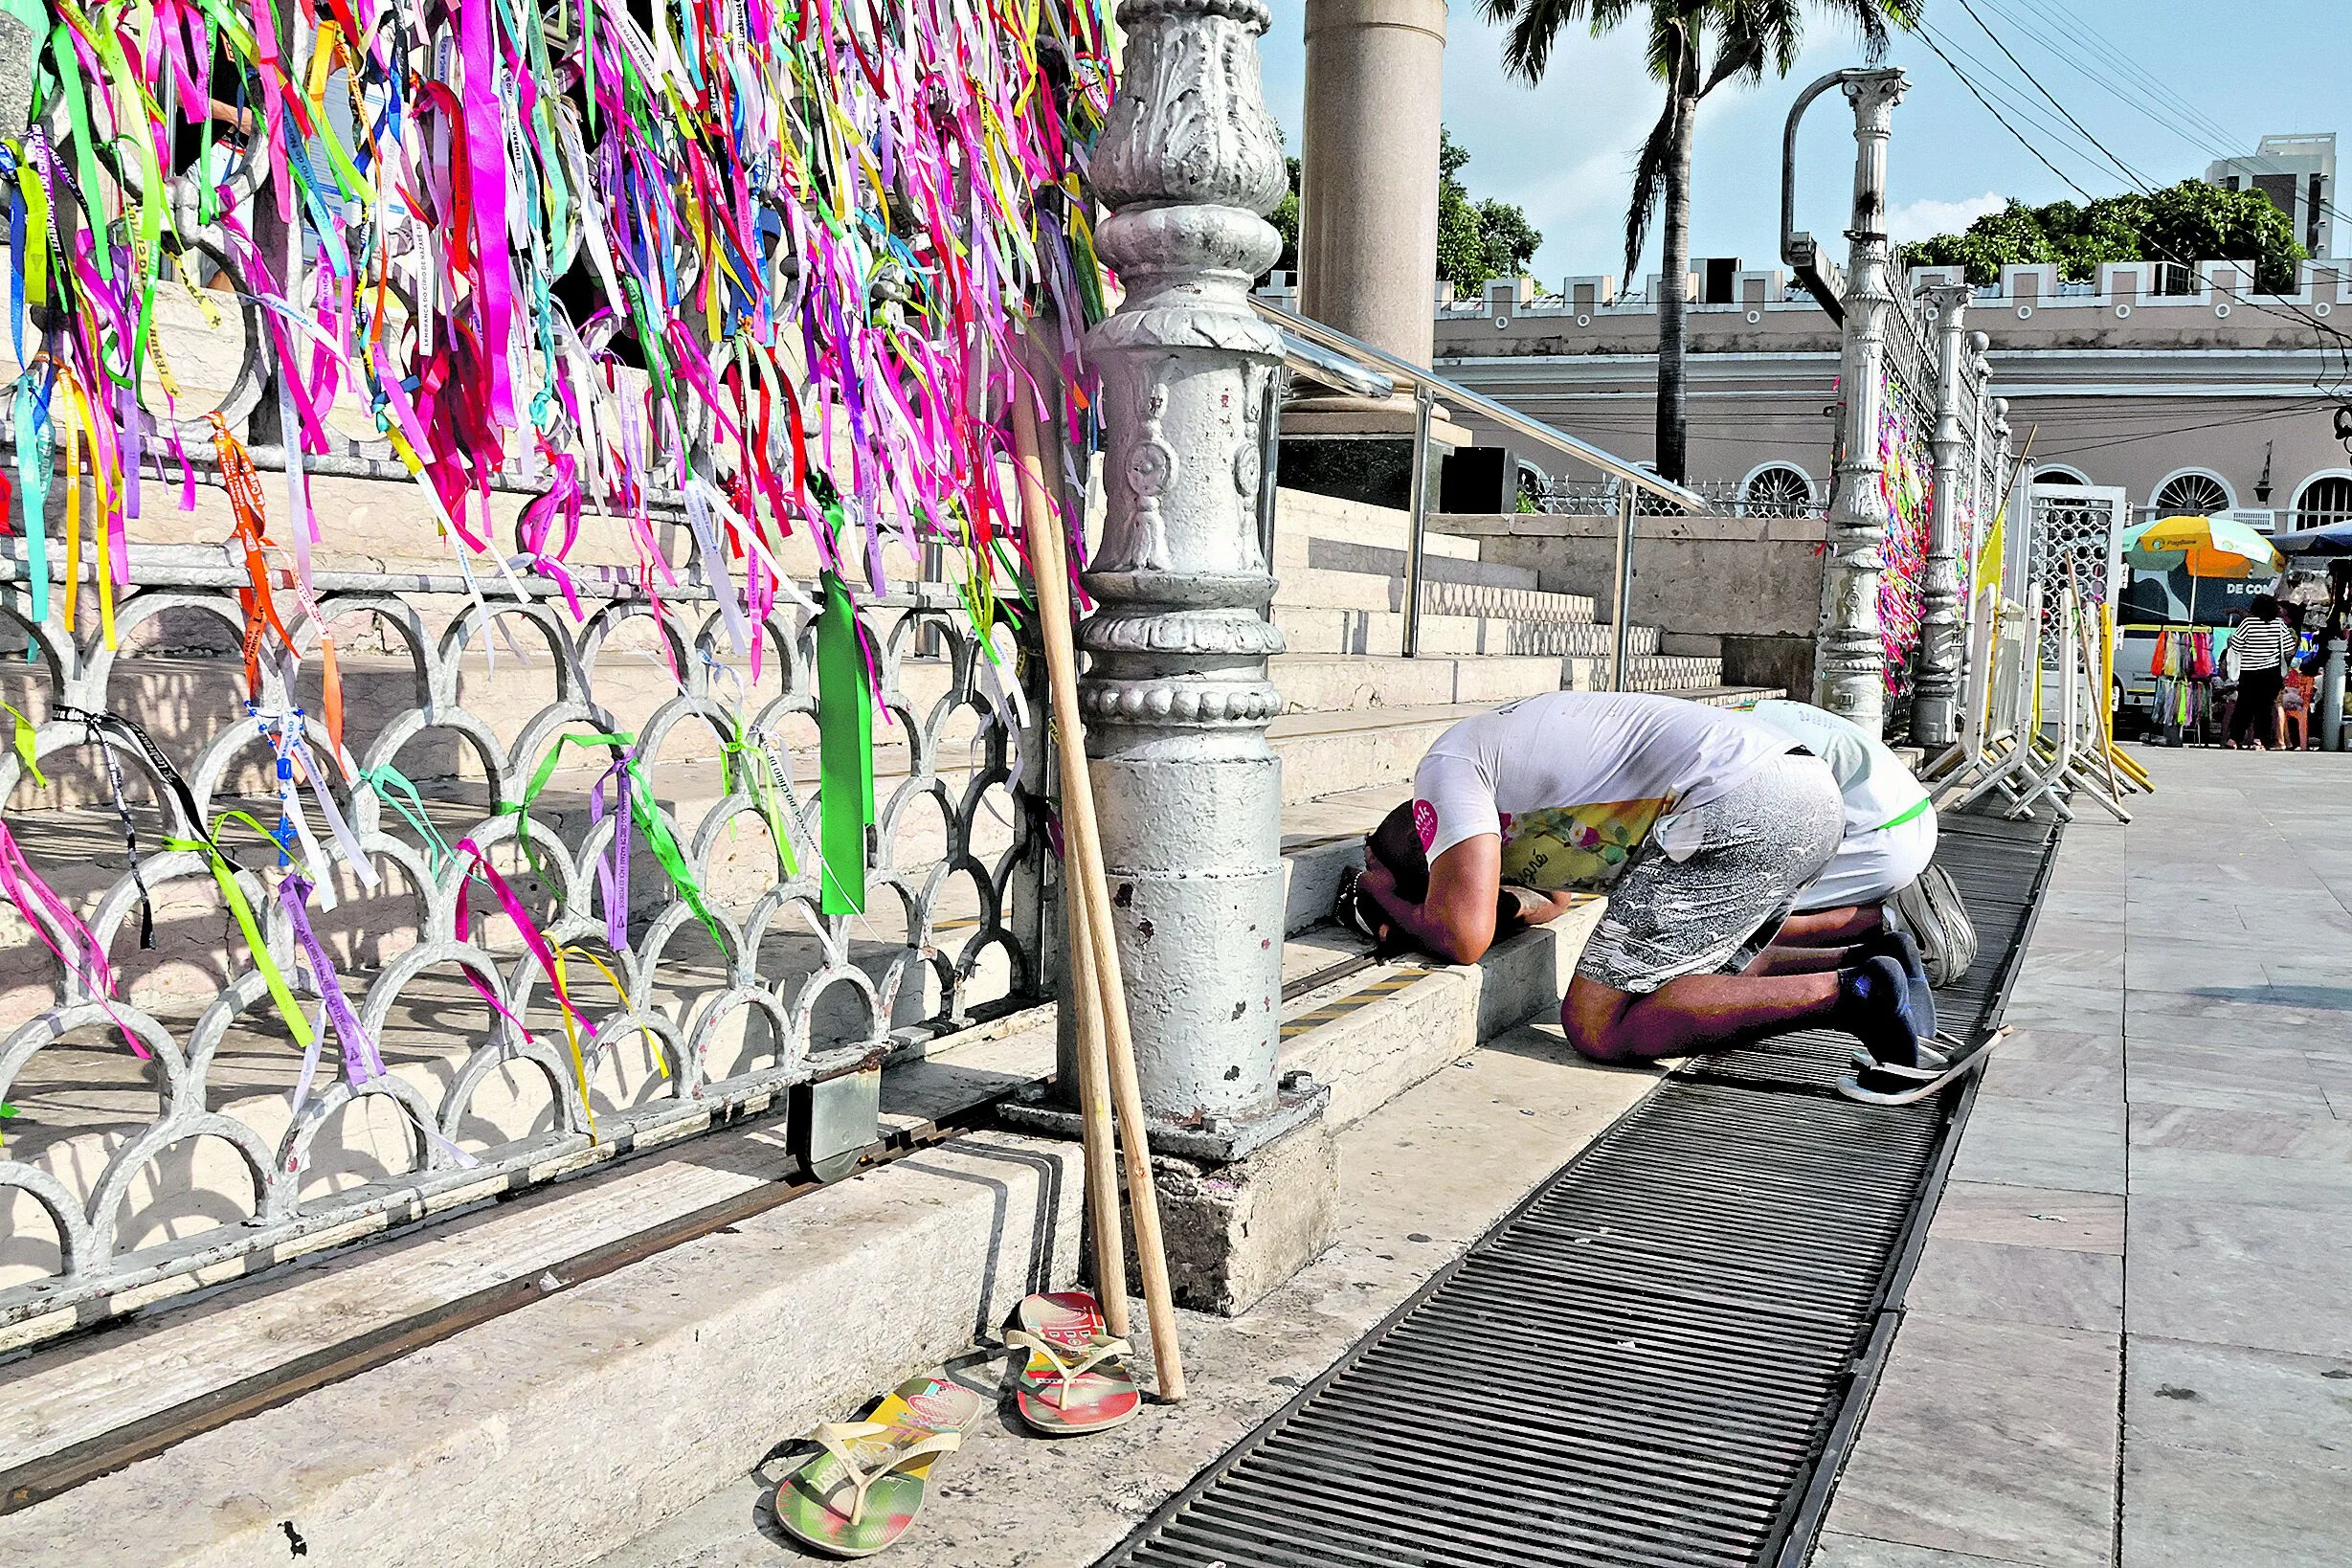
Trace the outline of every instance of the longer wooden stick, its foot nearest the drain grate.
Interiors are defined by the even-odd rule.
[[[1136,1046],[1127,1027],[1127,978],[1120,969],[1120,943],[1110,924],[1110,889],[1103,886],[1103,844],[1096,837],[1094,780],[1087,776],[1087,729],[1077,715],[1077,649],[1070,639],[1070,567],[1063,550],[1061,515],[1044,489],[1037,458],[1037,414],[1025,390],[1014,395],[1014,468],[1021,477],[1021,520],[1030,541],[1030,571],[1037,578],[1037,621],[1044,639],[1044,665],[1051,682],[1054,724],[1061,731],[1061,837],[1063,898],[1077,910],[1070,919],[1070,964],[1080,994],[1080,1025],[1087,1025],[1087,994],[1101,1020],[1103,1063],[1110,1098],[1124,1135],[1127,1201],[1136,1225],[1136,1265],[1143,1274],[1143,1309],[1152,1326],[1152,1361],[1160,1371],[1160,1399],[1183,1399],[1183,1356],[1176,1349],[1176,1298],[1169,1291],[1167,1248],[1160,1239],[1160,1192],[1152,1187],[1152,1154],[1145,1140],[1143,1091],[1136,1084]],[[1080,1041],[1084,1060],[1084,1039]],[[1084,1072],[1080,1093],[1084,1093]],[[1115,1201],[1110,1204],[1115,1208]],[[1124,1281],[1122,1281],[1124,1284]]]

